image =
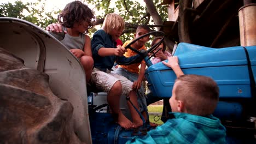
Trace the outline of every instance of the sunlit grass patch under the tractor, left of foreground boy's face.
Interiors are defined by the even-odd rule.
[[[148,106],[148,112],[162,113],[162,107],[162,105]],[[159,116],[149,115],[149,122],[163,124],[161,121],[161,114],[159,114]]]

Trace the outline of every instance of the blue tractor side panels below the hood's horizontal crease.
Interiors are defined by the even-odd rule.
[[[217,69],[217,70],[216,70]],[[183,69],[185,74],[197,74],[212,77],[220,91],[220,98],[251,98],[251,87],[247,65],[236,67],[208,67]],[[174,72],[169,70],[157,70],[148,74],[150,89],[155,97],[170,98],[172,87],[176,79]]]

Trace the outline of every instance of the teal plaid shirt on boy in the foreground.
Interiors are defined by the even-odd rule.
[[[173,113],[175,118],[144,137],[133,137],[127,143],[226,143],[226,129],[214,116],[201,117],[188,113]]]

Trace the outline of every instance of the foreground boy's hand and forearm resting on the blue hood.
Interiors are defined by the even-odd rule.
[[[162,63],[172,68],[177,77],[184,75],[181,67],[179,67],[179,59],[177,56],[168,57],[168,62],[162,61]]]

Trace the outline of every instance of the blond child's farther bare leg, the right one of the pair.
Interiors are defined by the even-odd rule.
[[[137,95],[135,91],[131,91],[129,94],[130,100],[132,102],[133,105],[136,106],[136,108],[138,109],[138,100],[137,100]],[[127,101],[127,105],[129,106],[130,112],[131,112],[131,116],[132,116],[132,122],[133,122],[133,126],[134,128],[140,127],[143,122],[141,117],[139,117],[138,112],[134,109],[134,107]]]

